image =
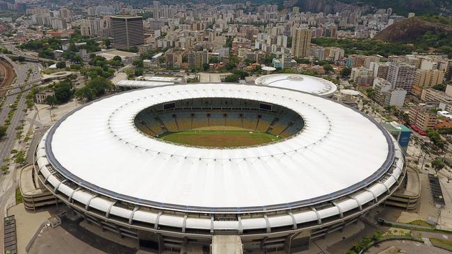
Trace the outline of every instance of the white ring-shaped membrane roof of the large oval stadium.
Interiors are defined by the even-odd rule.
[[[277,143],[202,149],[162,142],[134,126],[136,114],[151,105],[207,97],[282,105],[298,112],[305,128]],[[218,83],[131,90],[94,101],[58,121],[45,146],[52,166],[87,189],[195,210],[332,200],[381,177],[394,153],[392,138],[376,122],[330,99]]]

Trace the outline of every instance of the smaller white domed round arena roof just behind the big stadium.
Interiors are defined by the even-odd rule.
[[[325,97],[332,96],[337,90],[337,86],[330,81],[301,74],[270,74],[260,76],[255,80],[255,84],[297,90]]]

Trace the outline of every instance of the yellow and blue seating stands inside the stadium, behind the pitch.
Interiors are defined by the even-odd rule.
[[[292,110],[279,105],[259,108],[258,101],[206,98],[176,101],[163,110],[154,105],[136,116],[136,127],[157,136],[181,130],[250,130],[289,137],[302,130],[304,122]]]

